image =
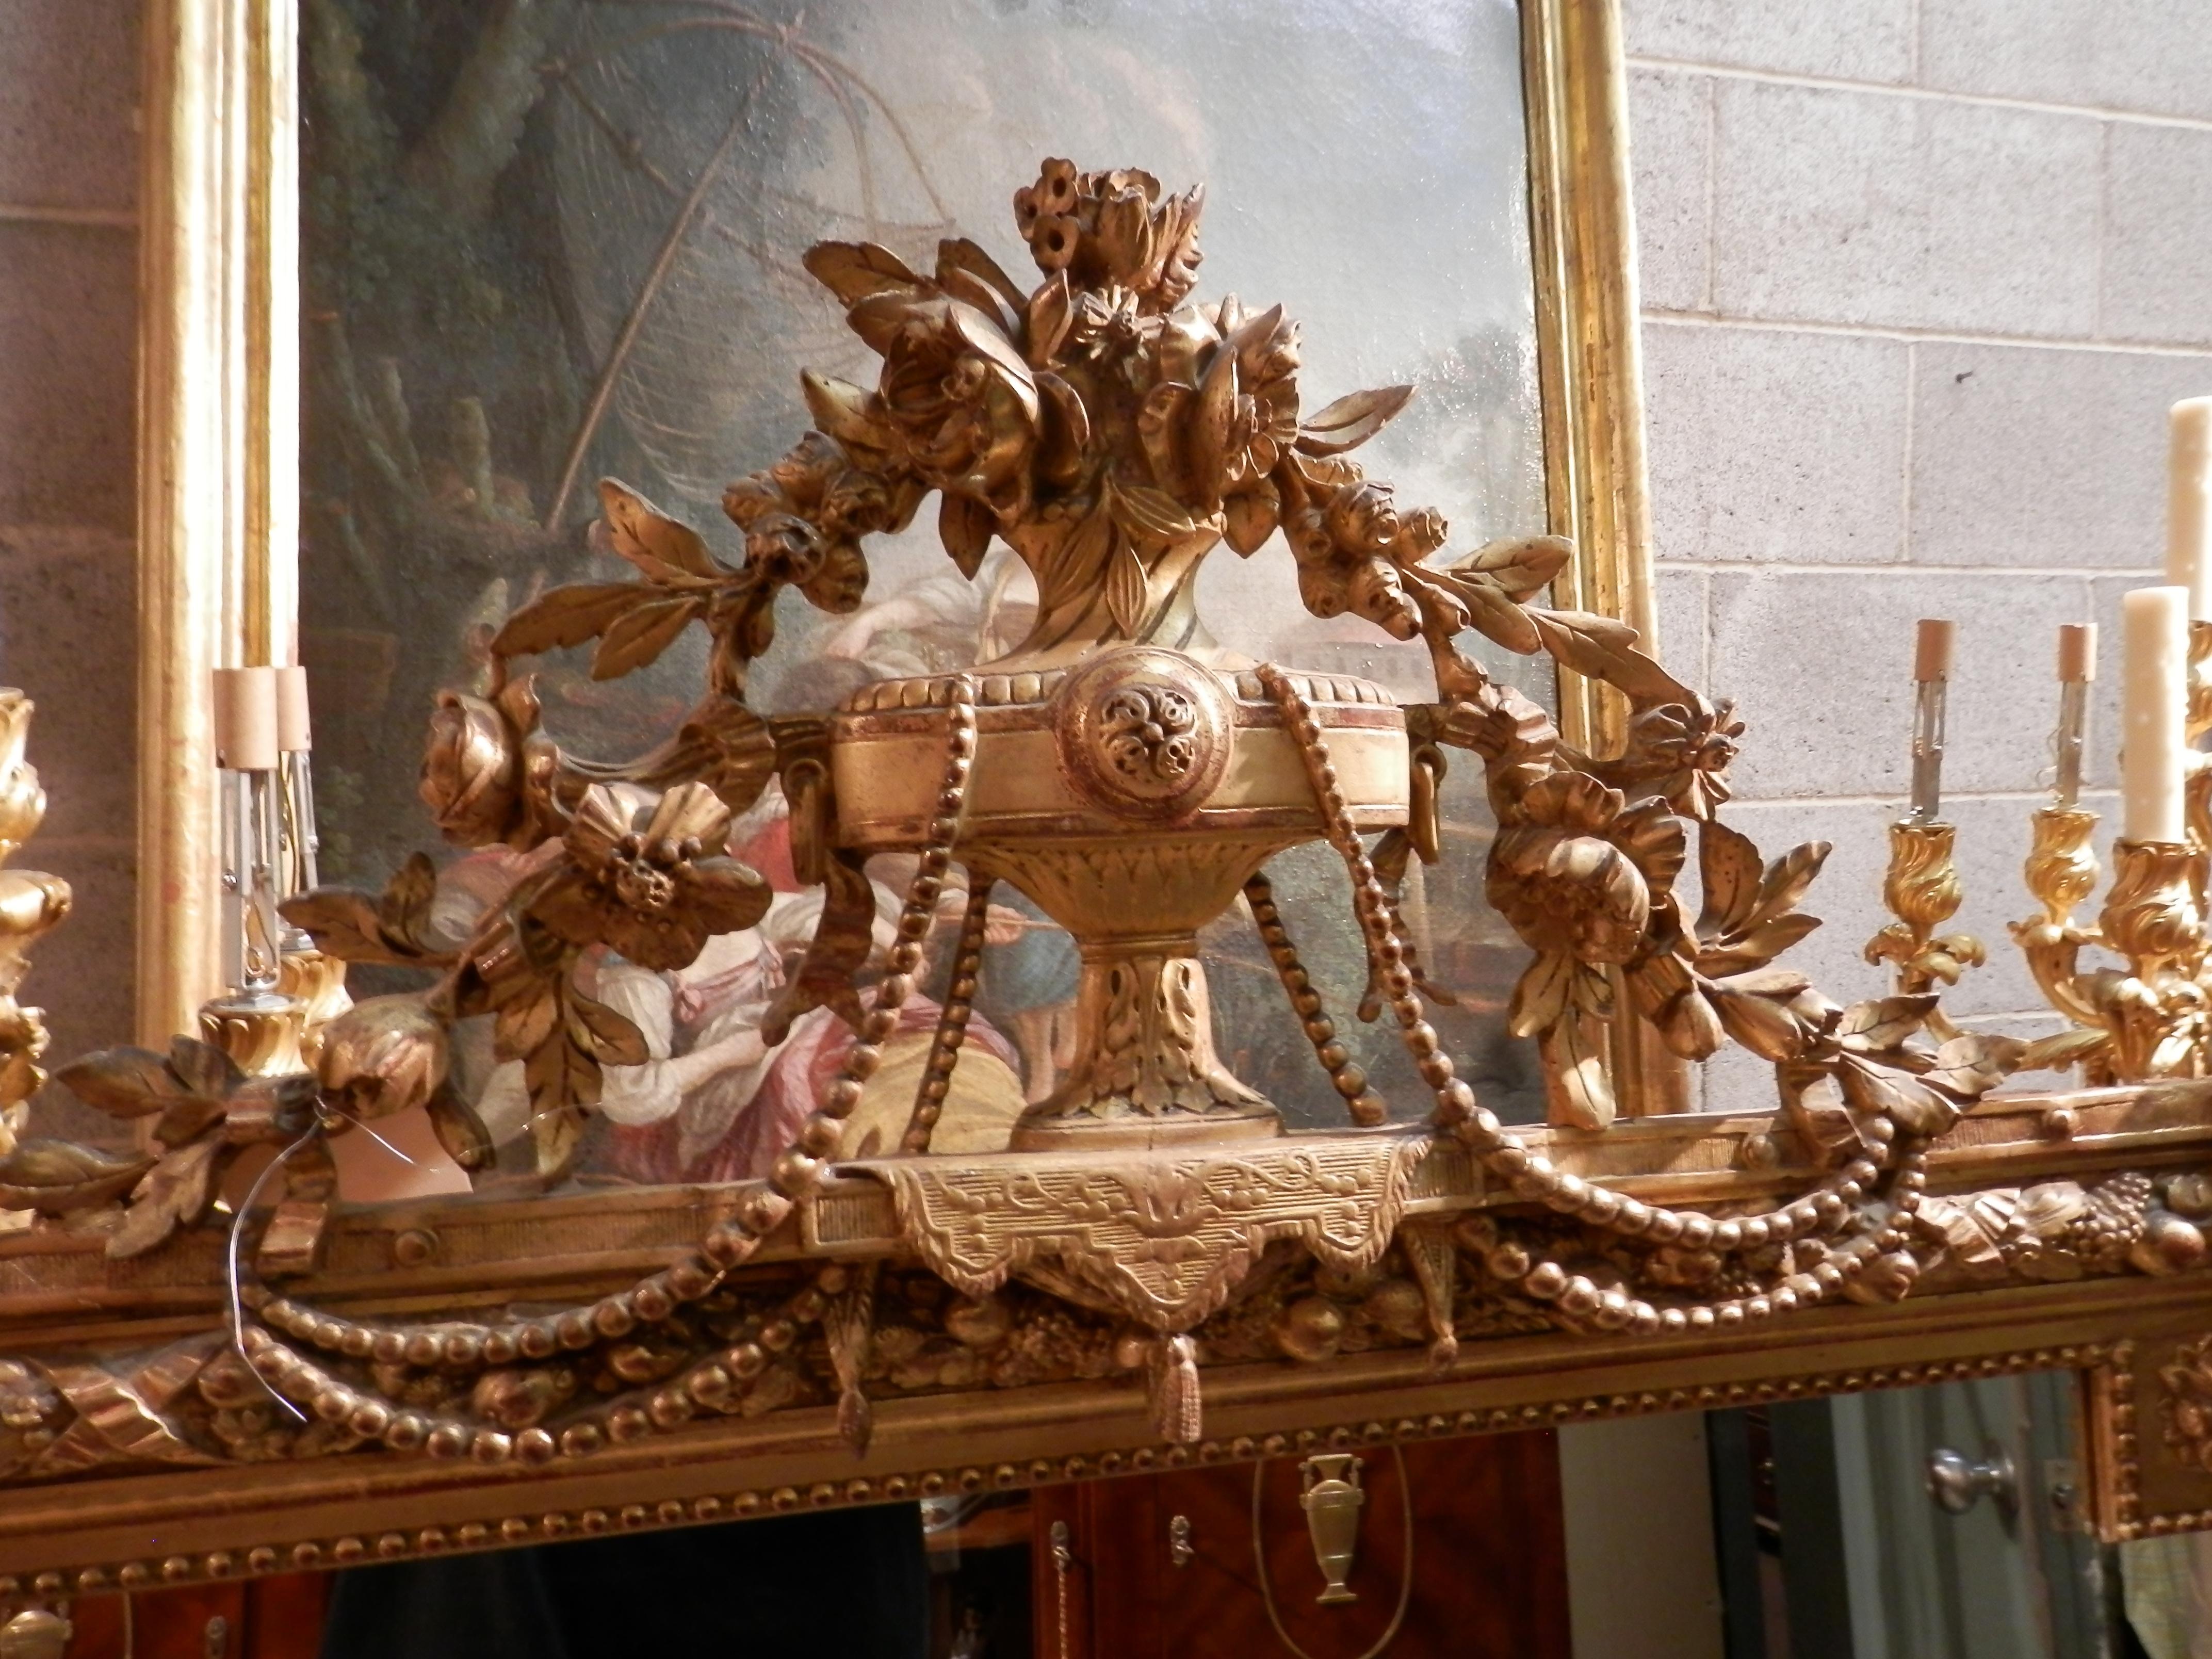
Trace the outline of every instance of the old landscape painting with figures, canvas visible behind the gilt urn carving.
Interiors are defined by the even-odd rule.
[[[1405,507],[1440,509],[1451,549],[1573,529],[1577,456],[1588,469],[1635,427],[1608,414],[1632,367],[1615,356],[1608,383],[1573,403],[1564,330],[1586,301],[1624,292],[1615,276],[1584,296],[1564,265],[1601,254],[1566,246],[1548,195],[1590,153],[1559,139],[1571,113],[1555,60],[1575,42],[1546,13],[1509,0],[1290,15],[942,0],[810,7],[794,22],[699,2],[553,7],[524,24],[500,7],[310,0],[299,648],[316,697],[323,878],[380,887],[425,841],[425,723],[440,692],[480,688],[498,622],[549,586],[624,568],[593,533],[597,478],[730,555],[741,533],[723,487],[803,431],[801,369],[872,374],[805,248],[865,239],[927,268],[940,239],[971,237],[1026,261],[1009,197],[1044,155],[1141,166],[1170,192],[1203,181],[1203,292],[1298,321],[1307,405],[1413,387],[1363,460]],[[1225,40],[1252,42],[1234,77],[1217,73]],[[933,522],[925,511],[869,542],[852,615],[787,593],[750,701],[832,708],[869,681],[1015,646],[1037,604],[1029,571],[998,542],[962,577]],[[1568,580],[1635,593],[1635,535],[1590,529]],[[1203,566],[1199,608],[1223,648],[1431,695],[1418,644],[1312,617],[1287,566],[1281,535]],[[1493,655],[1557,706],[1542,657]],[[546,728],[588,754],[641,752],[681,721],[703,657],[699,630],[619,681],[593,679],[588,653],[549,655],[535,664]],[[803,1042],[759,1042],[779,960],[812,925],[781,805],[770,790],[734,843],[783,889],[763,933],[717,940],[679,973],[604,964],[608,995],[672,1062],[611,1073],[608,1117],[630,1095],[655,1110],[646,1099],[675,1086],[686,1128],[650,1150],[613,1135],[586,1172],[759,1175],[737,1126],[810,1088],[821,1060]],[[1455,856],[1413,878],[1407,925],[1458,1000],[1440,1029],[1484,1097],[1528,1121],[1542,1115],[1535,1053],[1502,1018],[1526,953],[1473,874],[1491,823],[1471,776],[1447,781],[1442,818]],[[460,918],[495,902],[522,867],[507,849],[456,858],[440,905]],[[1270,874],[1316,980],[1356,1002],[1365,951],[1327,847],[1292,849]],[[1068,1062],[1075,947],[1015,889],[1002,898],[962,1088],[1035,1102]],[[1292,1126],[1334,1121],[1250,916],[1201,945],[1230,1068]],[[1385,1026],[1347,1024],[1385,1093],[1418,1088]],[[507,1141],[526,1102],[489,1037],[480,1048],[465,1086]]]

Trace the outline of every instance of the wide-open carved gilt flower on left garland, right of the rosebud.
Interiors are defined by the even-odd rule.
[[[768,883],[719,852],[728,834],[730,810],[703,783],[637,810],[593,785],[566,836],[573,878],[533,916],[571,945],[606,942],[648,969],[690,967],[708,938],[768,914]]]

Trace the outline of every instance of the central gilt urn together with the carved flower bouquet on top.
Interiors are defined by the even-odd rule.
[[[967,677],[867,686],[830,730],[836,845],[920,852],[956,812],[951,856],[1075,936],[1077,1053],[1024,1115],[1024,1150],[1279,1133],[1274,1106],[1214,1053],[1197,933],[1325,825],[1276,701],[1201,626],[1197,568],[1219,542],[1248,555],[1281,526],[1307,604],[1334,615],[1389,604],[1385,553],[1442,542],[1433,513],[1400,524],[1389,489],[1343,460],[1405,387],[1301,425],[1283,307],[1188,303],[1199,204],[1146,173],[1046,161],[1015,195],[1046,276],[1029,294],[969,243],[945,246],[936,281],[874,248],[807,257],[883,354],[876,392],[807,376],[821,429],[847,456],[914,456],[964,573],[1002,538],[1037,584],[1035,628],[1013,653]],[[841,491],[852,504],[832,511]],[[827,465],[772,469],[734,487],[730,509],[759,538],[801,500],[823,502],[816,518],[905,507]],[[1398,606],[1407,637],[1413,613]],[[1402,710],[1354,679],[1298,690],[1352,823],[1402,825]],[[973,703],[975,754],[964,799],[947,803],[956,703]]]

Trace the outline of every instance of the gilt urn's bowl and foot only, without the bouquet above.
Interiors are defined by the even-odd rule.
[[[958,856],[1075,936],[1075,1062],[1013,1146],[1274,1135],[1214,1053],[1197,933],[1245,878],[1323,834],[1298,745],[1250,670],[1097,641],[1073,668],[969,677],[975,770]],[[1407,818],[1405,712],[1360,679],[1294,677],[1327,730],[1352,821]],[[863,688],[832,723],[836,838],[916,849],[938,810],[960,679]]]

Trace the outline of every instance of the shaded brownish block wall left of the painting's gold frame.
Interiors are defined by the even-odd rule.
[[[0,684],[49,796],[15,863],[77,896],[22,989],[55,1057],[133,1020],[137,133],[133,0],[0,2]]]

